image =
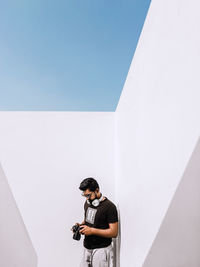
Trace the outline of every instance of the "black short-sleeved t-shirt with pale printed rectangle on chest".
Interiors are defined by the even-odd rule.
[[[85,225],[98,229],[108,229],[109,223],[118,222],[116,206],[107,198],[98,207],[85,202]],[[96,235],[85,236],[84,247],[87,249],[104,248],[111,244],[112,238]]]

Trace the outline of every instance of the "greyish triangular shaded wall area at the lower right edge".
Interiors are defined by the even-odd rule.
[[[200,140],[143,267],[200,266]]]

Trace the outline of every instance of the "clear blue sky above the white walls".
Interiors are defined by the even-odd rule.
[[[114,111],[150,0],[0,3],[0,110]]]

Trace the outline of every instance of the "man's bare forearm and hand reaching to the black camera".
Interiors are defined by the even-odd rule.
[[[80,233],[84,235],[98,235],[107,238],[115,238],[118,235],[118,222],[109,223],[108,229],[98,229],[82,225]]]

